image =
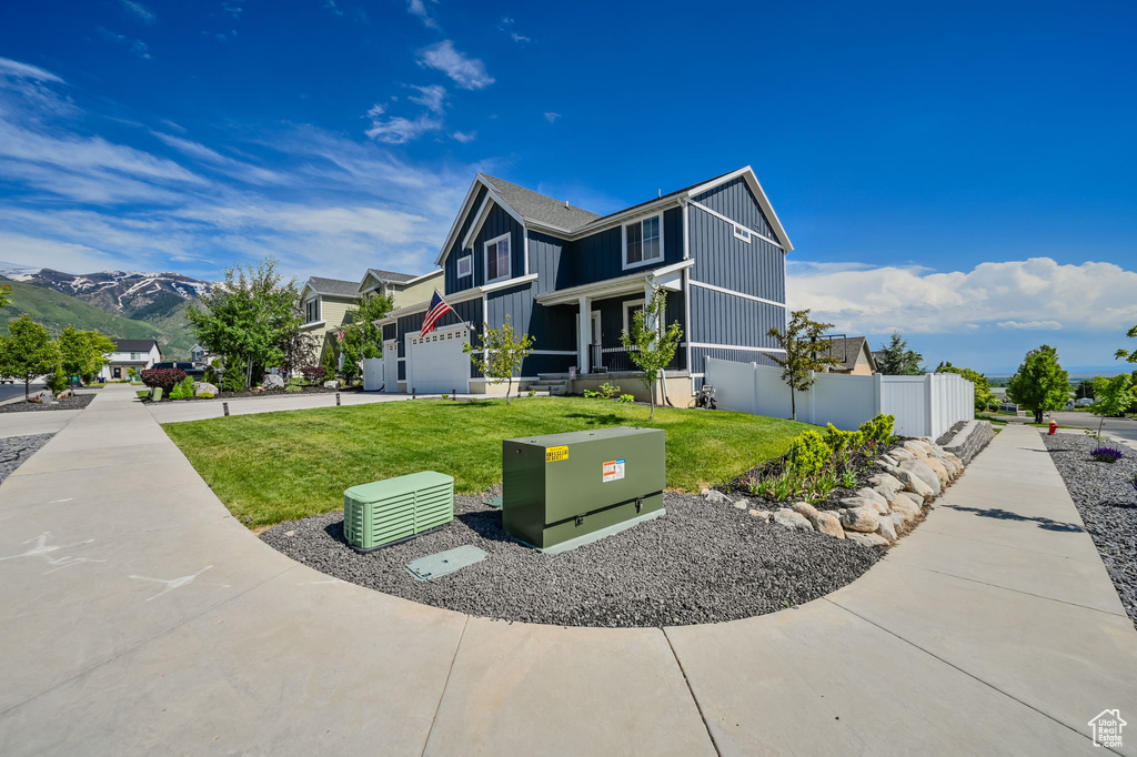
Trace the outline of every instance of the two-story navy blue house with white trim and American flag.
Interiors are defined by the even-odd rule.
[[[482,392],[462,346],[511,316],[536,338],[522,382],[634,371],[620,334],[656,289],[683,341],[666,372],[686,404],[707,357],[771,364],[786,325],[786,231],[749,168],[599,216],[478,174],[437,264],[454,308],[420,339],[429,297],[382,321],[388,391]],[[636,385],[626,373],[621,385]],[[587,383],[578,382],[579,391]],[[678,404],[678,402],[677,402]]]

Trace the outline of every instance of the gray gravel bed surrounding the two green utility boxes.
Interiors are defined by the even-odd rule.
[[[441,531],[357,555],[343,513],[282,523],[262,539],[322,573],[481,617],[554,625],[656,627],[733,621],[807,602],[855,580],[881,552],[816,532],[789,531],[731,505],[665,493],[667,514],[561,555],[501,530],[485,497],[458,496]],[[291,535],[289,535],[291,534]],[[406,564],[463,544],[489,556],[420,582]]]

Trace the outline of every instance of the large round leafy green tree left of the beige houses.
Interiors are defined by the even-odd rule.
[[[244,366],[248,388],[255,365],[284,360],[281,346],[301,319],[296,308],[299,297],[296,280],[282,283],[276,260],[265,258],[257,268],[226,268],[225,281],[202,292],[200,305],[191,305],[185,318],[199,343],[225,356],[226,378],[238,363]]]

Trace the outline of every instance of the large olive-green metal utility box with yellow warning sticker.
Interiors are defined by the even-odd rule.
[[[562,552],[663,515],[666,439],[658,429],[619,426],[505,440],[506,533]]]

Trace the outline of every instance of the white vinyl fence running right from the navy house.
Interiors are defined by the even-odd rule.
[[[894,433],[938,438],[958,421],[974,417],[974,385],[954,373],[921,376],[854,376],[819,373],[813,388],[797,392],[797,419],[853,431],[883,413],[896,417]],[[707,358],[706,383],[719,407],[774,418],[791,416],[789,386],[781,368]]]

